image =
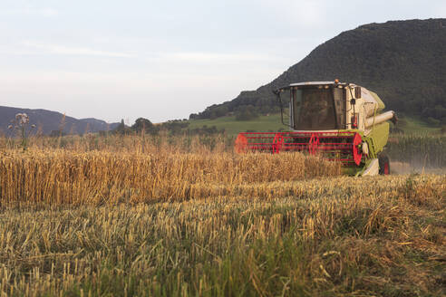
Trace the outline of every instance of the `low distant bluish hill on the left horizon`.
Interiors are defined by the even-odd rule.
[[[74,119],[63,116],[62,113],[51,110],[28,110],[14,107],[0,106],[0,129],[7,130],[11,120],[17,113],[26,113],[30,125],[34,124],[44,134],[50,134],[53,130],[63,129],[64,133],[82,134],[85,132],[98,132],[100,130],[114,129],[119,123],[107,123],[96,119]]]

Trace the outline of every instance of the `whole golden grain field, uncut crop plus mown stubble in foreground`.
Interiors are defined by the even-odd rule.
[[[3,148],[0,292],[446,293],[446,176],[340,177],[319,158],[186,140]]]

